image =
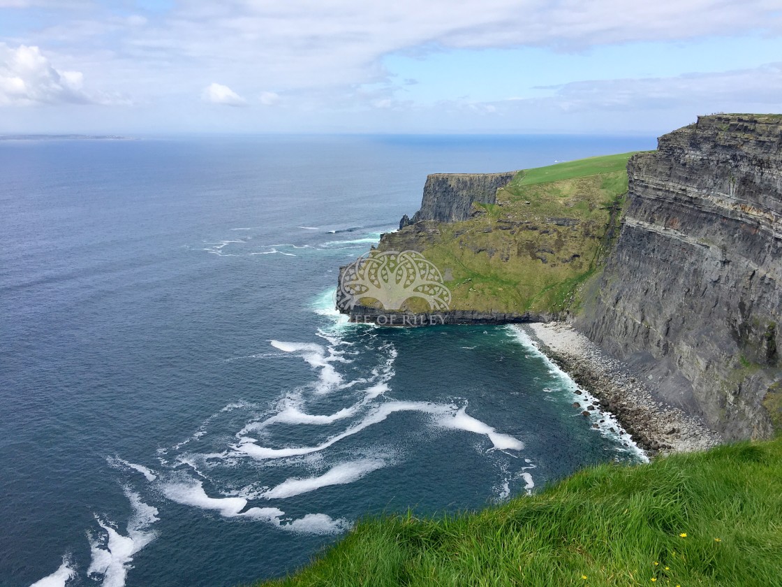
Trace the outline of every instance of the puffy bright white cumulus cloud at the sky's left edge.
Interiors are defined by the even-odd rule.
[[[38,47],[0,43],[0,106],[95,102],[83,84],[81,72],[56,69]]]

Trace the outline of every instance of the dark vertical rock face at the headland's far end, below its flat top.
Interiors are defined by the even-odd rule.
[[[497,189],[508,185],[516,175],[507,173],[436,173],[428,175],[421,209],[413,218],[404,215],[400,229],[421,220],[458,222],[467,220],[473,203],[495,203]]]

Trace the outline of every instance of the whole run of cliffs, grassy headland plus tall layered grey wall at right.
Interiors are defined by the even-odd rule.
[[[569,320],[724,438],[768,437],[782,429],[782,115],[699,117],[630,155],[430,175],[378,250],[421,252],[453,295],[448,312],[403,313]]]

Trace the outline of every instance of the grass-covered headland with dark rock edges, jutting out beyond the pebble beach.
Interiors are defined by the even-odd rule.
[[[457,210],[466,218],[418,220],[383,235],[377,252],[423,254],[442,272],[450,308],[432,312],[411,299],[393,323],[538,322],[563,312],[618,228],[630,154],[515,174],[430,175],[414,218],[452,218]],[[475,201],[479,188],[506,182],[508,175],[513,178],[504,187],[484,193],[490,202]],[[363,299],[348,313],[375,322],[388,314],[378,308],[371,298]]]

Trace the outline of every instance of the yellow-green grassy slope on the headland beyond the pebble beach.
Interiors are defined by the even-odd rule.
[[[611,207],[621,206],[627,192],[632,154],[520,171],[497,191],[497,205],[479,206],[477,218],[410,226],[386,236],[380,248],[420,250],[452,277],[452,309],[561,311],[594,272]]]

